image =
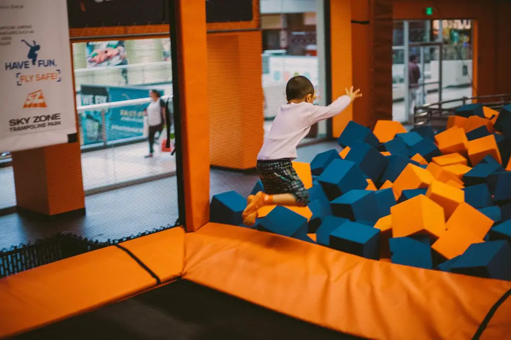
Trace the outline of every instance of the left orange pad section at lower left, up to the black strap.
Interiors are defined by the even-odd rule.
[[[125,251],[108,247],[0,280],[0,338],[54,323],[154,286]]]

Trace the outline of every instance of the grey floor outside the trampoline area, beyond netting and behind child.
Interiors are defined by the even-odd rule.
[[[336,148],[324,142],[298,148],[300,162],[310,162],[322,151]],[[235,190],[243,196],[251,192],[258,176],[212,169],[210,195]],[[178,218],[176,177],[157,179],[85,197],[86,216],[60,221],[41,221],[18,214],[0,216],[0,250],[34,242],[61,231],[70,231],[91,240],[107,241],[174,225]]]

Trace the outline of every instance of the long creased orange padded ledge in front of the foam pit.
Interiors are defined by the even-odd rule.
[[[470,339],[511,282],[394,265],[247,228],[188,233],[183,278],[373,339]],[[511,304],[493,334],[509,334]],[[484,334],[484,333],[483,333]]]

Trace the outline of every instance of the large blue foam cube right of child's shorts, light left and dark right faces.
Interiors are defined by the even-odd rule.
[[[351,161],[334,160],[318,178],[330,201],[355,189],[367,188],[360,168]]]

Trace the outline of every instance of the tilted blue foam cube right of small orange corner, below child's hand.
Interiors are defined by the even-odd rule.
[[[387,166],[388,160],[369,144],[354,141],[344,160],[354,162],[371,180],[377,181]]]

